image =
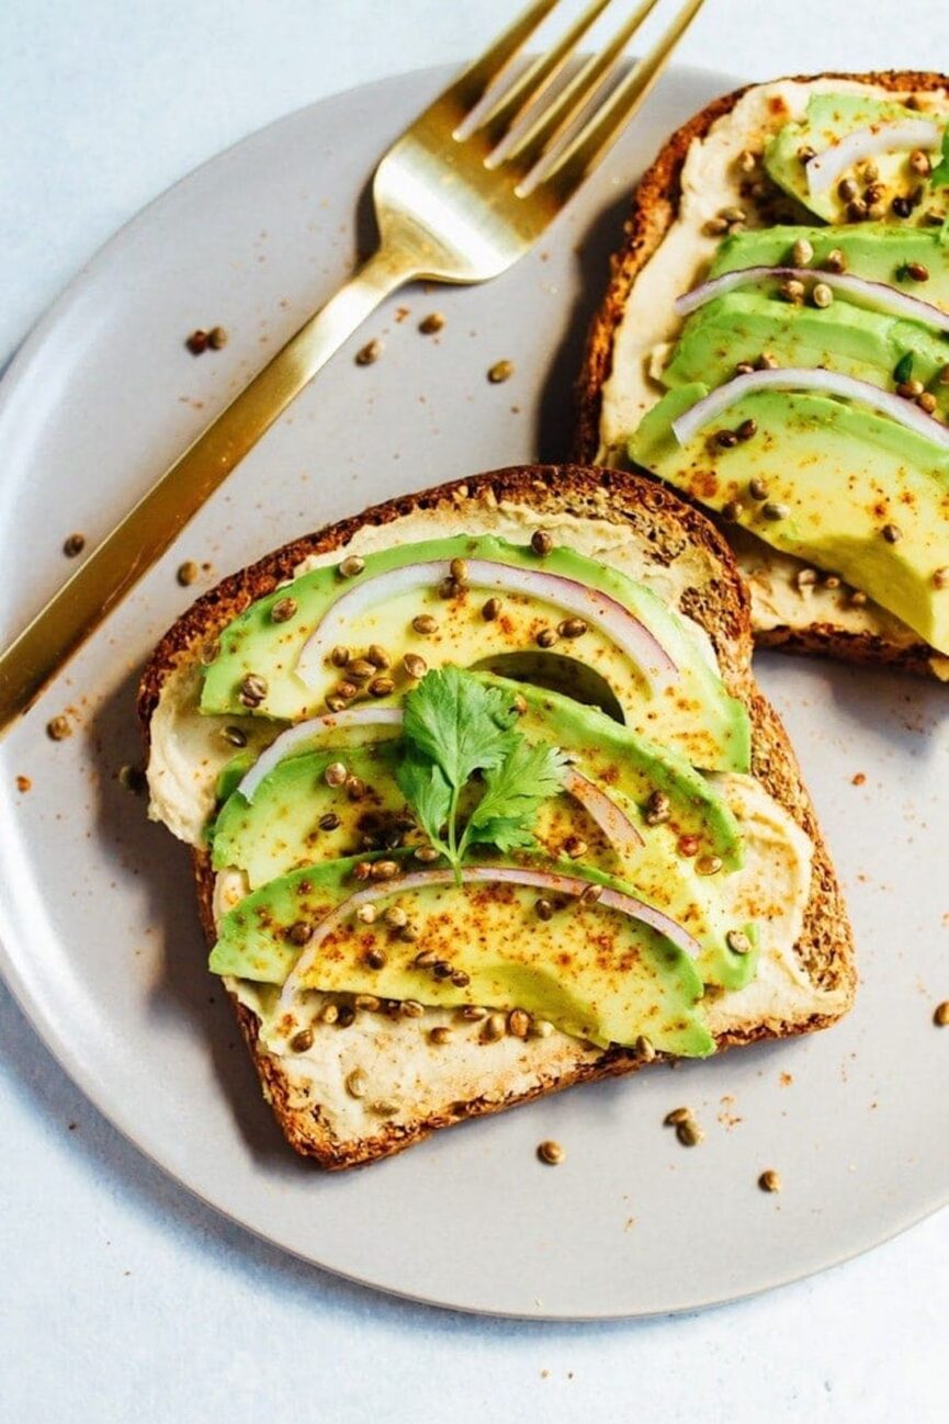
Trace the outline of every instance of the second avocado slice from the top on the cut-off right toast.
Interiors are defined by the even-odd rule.
[[[895,222],[859,222],[845,228],[754,228],[734,232],[720,244],[708,276],[751,266],[789,266],[791,249],[798,239],[814,248],[809,266],[815,278],[828,255],[839,251],[851,276],[883,282],[949,310],[949,244],[940,241],[939,228],[906,228]],[[929,276],[925,282],[908,276],[909,262],[926,268]]]

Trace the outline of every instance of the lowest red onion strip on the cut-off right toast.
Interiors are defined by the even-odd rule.
[[[859,400],[865,406],[872,406],[881,414],[896,420],[906,430],[913,430],[933,444],[949,450],[949,427],[939,424],[925,410],[895,396],[879,386],[871,386],[868,380],[858,380],[856,376],[842,376],[834,370],[805,370],[788,366],[785,370],[752,370],[747,376],[735,376],[702,396],[694,406],[690,406],[677,420],[673,422],[673,434],[681,446],[698,434],[710,422],[715,420],[724,410],[734,406],[742,396],[750,396],[755,390],[818,390],[825,396],[841,396],[844,400]]]

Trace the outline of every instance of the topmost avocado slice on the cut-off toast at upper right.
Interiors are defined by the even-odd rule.
[[[826,222],[839,222],[846,216],[846,201],[841,198],[836,182],[812,197],[808,188],[805,165],[801,152],[811,150],[822,154],[846,134],[861,128],[872,128],[893,121],[919,121],[922,115],[893,100],[875,98],[871,94],[812,94],[808,100],[804,122],[784,124],[765,147],[764,165],[768,175],[797,198],[805,208]],[[915,145],[913,145],[915,147]],[[935,152],[935,150],[933,150]],[[919,184],[919,177],[906,162],[908,150],[891,154],[875,154],[873,164],[878,179],[888,195],[909,195]],[[851,171],[841,177],[855,177]],[[865,184],[859,184],[861,194]]]

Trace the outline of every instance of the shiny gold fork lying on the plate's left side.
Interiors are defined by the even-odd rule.
[[[544,98],[610,0],[591,0],[546,54],[513,83],[497,85],[557,3],[534,0],[396,140],[373,181],[378,251],[0,655],[0,735],[385,296],[418,279],[483,282],[533,246],[637,111],[704,0],[687,0],[655,47],[596,108],[593,101],[606,93],[626,44],[658,0],[641,0],[556,97]]]

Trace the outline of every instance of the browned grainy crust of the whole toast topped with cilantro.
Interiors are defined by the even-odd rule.
[[[606,508],[604,491],[608,493]],[[459,527],[463,527],[466,506],[477,508],[487,496],[499,501],[529,504],[537,511],[539,521],[543,521],[544,511],[570,511],[628,524],[631,534],[636,531],[640,538],[648,541],[658,562],[668,562],[675,550],[683,547],[684,540],[701,544],[714,557],[720,570],[718,577],[705,588],[690,590],[684,602],[690,615],[702,624],[711,637],[730,691],[748,705],[752,719],[755,778],[787,807],[814,843],[811,896],[798,953],[811,978],[824,987],[842,990],[849,1007],[855,968],[846,911],[787,732],[751,676],[748,594],[721,534],[697,508],[684,504],[653,480],[617,470],[577,466],[519,466],[388,501],[356,518],[343,520],[268,554],[198,600],[155,648],[142,675],[138,698],[145,749],[150,740],[151,713],[168,675],[182,659],[197,658],[201,648],[207,646],[235,614],[271,592],[278,582],[291,575],[301,560],[343,547],[356,530],[366,524],[388,524],[415,510],[450,506]],[[209,857],[202,850],[194,852],[194,873],[201,923],[211,946],[215,940],[214,871]],[[372,1162],[400,1152],[437,1128],[499,1112],[577,1082],[616,1077],[641,1067],[641,1061],[631,1049],[610,1048],[596,1059],[576,1065],[570,1072],[541,1077],[529,1092],[510,1092],[492,1096],[490,1101],[473,1098],[467,1102],[450,1102],[443,1111],[419,1116],[409,1124],[383,1124],[372,1136],[338,1141],[328,1124],[321,1119],[319,1108],[301,1109],[294,1105],[289,1081],[279,1059],[266,1052],[259,1042],[259,1020],[234,995],[232,1002],[256,1064],[264,1095],[274,1108],[286,1141],[296,1152],[315,1158],[328,1169]],[[722,1035],[718,1048],[811,1032],[828,1027],[838,1017],[839,1014],[815,1014],[797,1021],[761,1022],[747,1031]]]

